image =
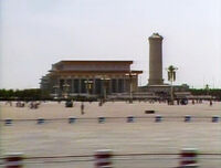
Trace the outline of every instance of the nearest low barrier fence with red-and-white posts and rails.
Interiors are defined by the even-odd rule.
[[[8,154],[0,158],[2,168],[41,167],[40,165],[66,164],[88,166],[94,168],[113,168],[127,165],[133,167],[165,167],[165,168],[193,168],[201,165],[219,167],[221,154],[199,153],[197,149],[185,148],[177,154],[116,154],[109,149],[97,150],[94,155],[63,155],[48,157],[24,157],[23,154]],[[166,165],[165,165],[166,164]]]

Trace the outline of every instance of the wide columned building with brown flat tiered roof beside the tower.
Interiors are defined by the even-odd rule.
[[[61,61],[41,78],[41,88],[53,97],[136,92],[138,75],[133,61]]]

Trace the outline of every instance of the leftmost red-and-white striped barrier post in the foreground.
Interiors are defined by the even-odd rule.
[[[9,154],[4,157],[6,168],[22,168],[23,155],[20,153]]]

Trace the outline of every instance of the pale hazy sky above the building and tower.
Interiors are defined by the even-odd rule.
[[[221,87],[220,0],[0,2],[0,88],[39,87],[61,60],[133,60],[147,84],[152,32],[165,38],[164,70],[179,69],[177,84]]]

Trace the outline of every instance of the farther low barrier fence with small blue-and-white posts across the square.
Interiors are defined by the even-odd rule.
[[[4,126],[12,125],[14,123],[25,123],[25,122],[35,122],[36,124],[44,124],[44,123],[51,123],[51,122],[66,122],[69,124],[74,124],[82,120],[96,120],[98,124],[104,124],[106,122],[116,122],[116,120],[125,120],[126,123],[135,123],[135,122],[141,122],[144,119],[155,122],[155,123],[161,123],[161,122],[185,122],[185,123],[191,123],[191,122],[211,122],[211,123],[219,123],[220,116],[127,116],[127,117],[74,117],[71,116],[69,118],[34,118],[34,119],[12,119],[12,118],[6,118],[0,119],[0,123],[3,123]]]

